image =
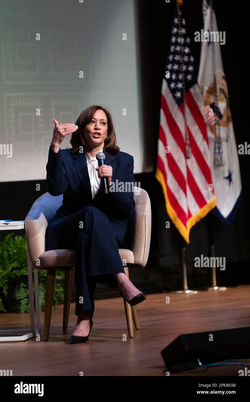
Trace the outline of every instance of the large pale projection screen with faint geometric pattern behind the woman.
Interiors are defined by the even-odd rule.
[[[134,0],[0,4],[0,181],[45,179],[52,119],[75,123],[96,104],[109,109],[120,150],[142,172]]]

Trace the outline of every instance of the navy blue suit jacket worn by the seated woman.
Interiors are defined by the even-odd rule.
[[[62,205],[56,211],[46,229],[46,250],[58,248],[60,228],[64,218],[87,206],[100,209],[108,217],[119,241],[119,248],[129,248],[129,216],[135,208],[133,199],[134,159],[126,152],[112,155],[103,150],[105,164],[113,168],[112,182],[124,183],[124,191],[103,194],[101,185],[95,198],[92,198],[87,159],[84,152],[71,153],[69,150],[54,152],[50,147],[46,165],[48,192],[51,195],[63,194]],[[126,182],[130,186],[126,187]],[[131,191],[129,191],[131,190]],[[100,228],[101,230],[101,228]],[[127,233],[127,236],[125,236]],[[127,244],[126,244],[127,242]]]

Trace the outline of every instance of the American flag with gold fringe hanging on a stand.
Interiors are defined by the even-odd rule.
[[[163,189],[167,213],[187,243],[192,226],[216,205],[203,113],[190,38],[185,19],[176,8],[161,89],[155,177]],[[188,143],[190,158],[186,154]]]

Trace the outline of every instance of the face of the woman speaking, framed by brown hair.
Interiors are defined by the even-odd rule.
[[[97,110],[93,119],[86,125],[83,139],[87,146],[103,148],[107,137],[108,121],[103,110]]]

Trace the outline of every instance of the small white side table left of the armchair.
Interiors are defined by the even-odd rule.
[[[0,230],[18,230],[24,229],[24,221],[1,221]],[[28,338],[33,338],[36,334],[41,333],[40,321],[40,303],[39,303],[39,287],[38,287],[38,270],[34,269],[34,283],[35,283],[35,300],[36,300],[36,326],[34,320],[34,299],[33,299],[33,276],[32,265],[30,261],[30,254],[27,245],[27,261],[28,261],[28,289],[29,289],[29,302],[30,302],[30,328],[28,329],[13,329],[13,330],[0,330],[0,342],[22,342]]]

